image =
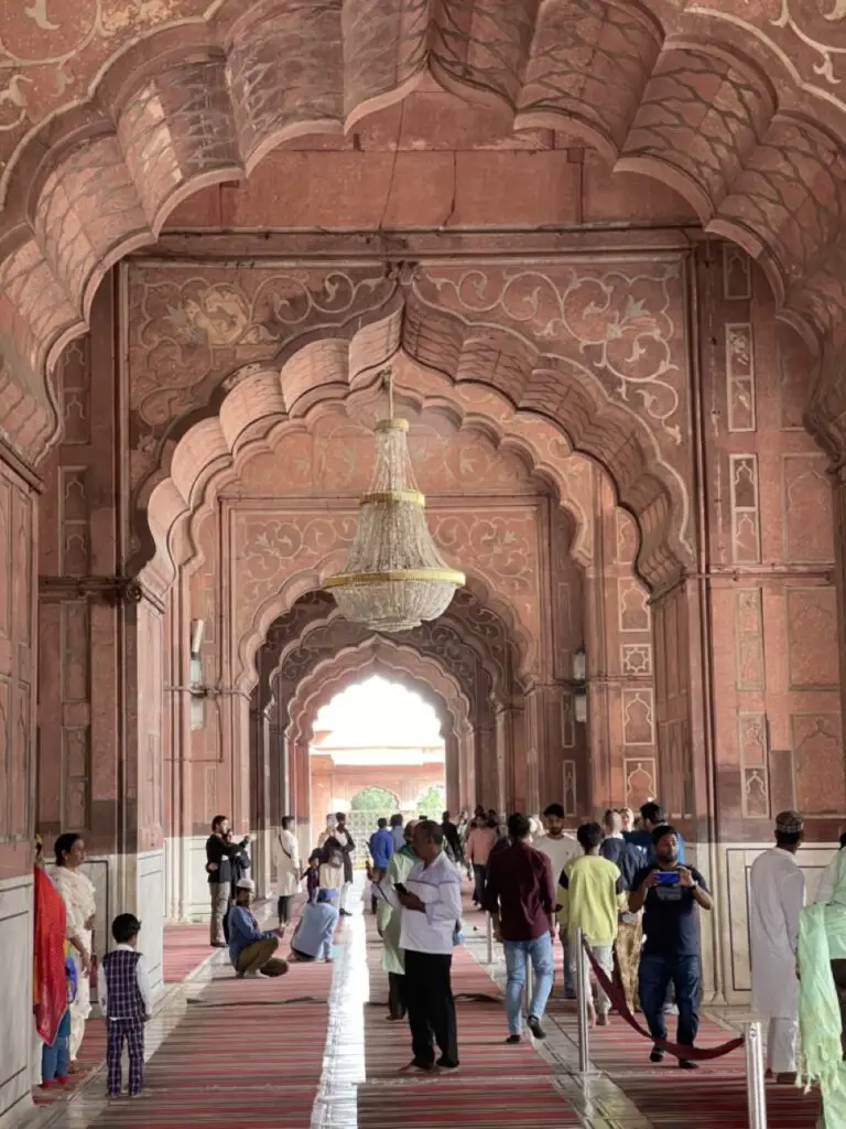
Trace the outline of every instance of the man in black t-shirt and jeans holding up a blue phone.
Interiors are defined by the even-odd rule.
[[[641,952],[638,989],[641,1007],[654,1040],[667,1039],[664,1001],[667,989],[676,988],[679,1009],[677,1042],[693,1047],[699,1029],[699,937],[696,907],[713,908],[714,902],[699,872],[679,864],[679,840],[675,828],[664,825],[652,833],[655,861],[642,867],[632,879],[628,908],[643,909],[645,942]],[[650,1060],[664,1057],[659,1047]],[[679,1059],[679,1066],[694,1070],[696,1064]]]

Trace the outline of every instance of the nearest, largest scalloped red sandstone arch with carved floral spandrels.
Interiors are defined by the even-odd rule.
[[[117,259],[197,189],[424,82],[671,185],[810,343],[846,338],[844,0],[7,2],[0,71],[0,417],[25,457]]]

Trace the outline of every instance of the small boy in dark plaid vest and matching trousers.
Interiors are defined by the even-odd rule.
[[[121,1056],[124,1042],[130,1056],[130,1097],[144,1085],[144,1024],[152,1015],[150,982],[144,957],[138,952],[141,922],[132,913],[118,913],[112,922],[117,947],[103,957],[97,980],[100,1008],[106,1016],[108,1043],[108,1096],[121,1096]]]

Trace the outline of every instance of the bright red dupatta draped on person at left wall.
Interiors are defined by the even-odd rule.
[[[64,974],[64,933],[68,914],[62,895],[44,867],[35,867],[35,968],[33,1010],[35,1026],[45,1043],[52,1045],[68,1008],[68,982]]]

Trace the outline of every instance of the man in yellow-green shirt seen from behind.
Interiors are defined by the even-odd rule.
[[[572,942],[576,929],[582,930],[597,962],[609,978],[614,972],[614,942],[617,938],[620,911],[626,908],[626,892],[617,864],[599,854],[603,838],[598,823],[583,823],[576,832],[576,839],[584,854],[567,863],[558,878],[558,921],[562,934],[566,934],[571,940],[569,948],[572,953],[574,980],[575,945]],[[608,1026],[611,1001],[601,986],[597,992],[598,1018],[590,996],[590,978],[584,984],[584,992],[590,1022]]]

